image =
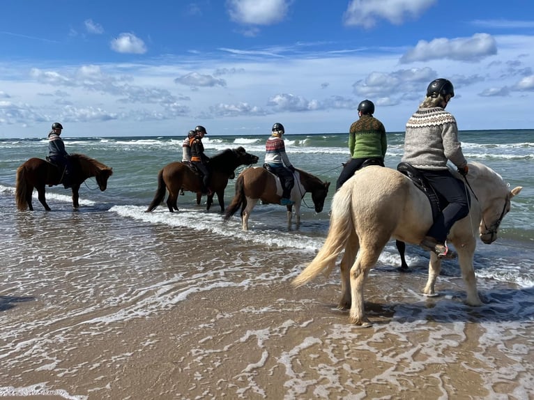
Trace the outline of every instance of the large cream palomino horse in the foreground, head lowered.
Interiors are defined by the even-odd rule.
[[[467,182],[472,188],[471,209],[467,217],[452,226],[448,243],[455,245],[458,252],[461,276],[467,286],[466,303],[475,306],[482,304],[473,270],[477,226],[482,242],[494,242],[499,224],[510,210],[510,199],[522,187],[509,190],[500,175],[478,162],[469,164]],[[350,308],[352,323],[369,325],[363,286],[382,249],[392,237],[418,244],[431,225],[430,203],[408,177],[389,168],[361,169],[335,194],[326,241],[293,285],[303,285],[323,270],[328,274],[344,250],[340,266],[342,293],[337,307]],[[426,295],[436,294],[434,284],[440,270],[441,259],[431,252],[429,277],[423,290]]]

